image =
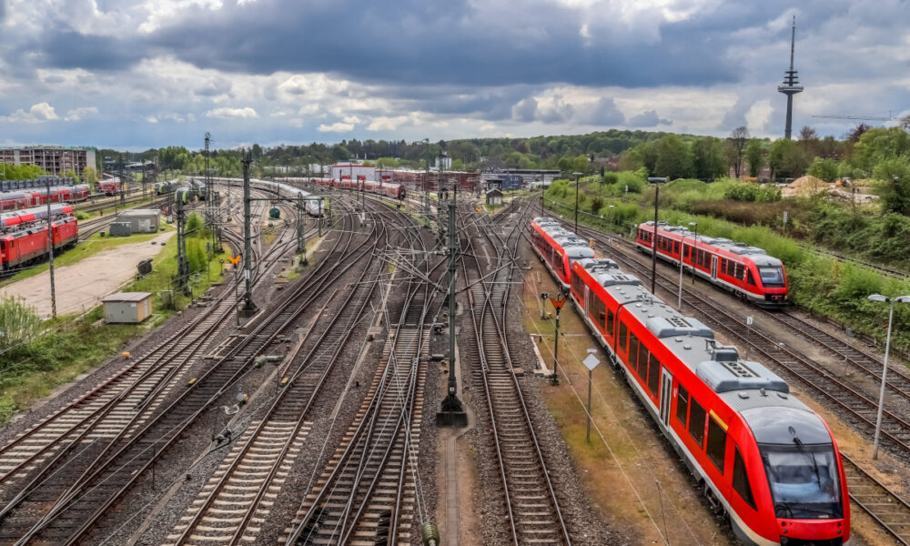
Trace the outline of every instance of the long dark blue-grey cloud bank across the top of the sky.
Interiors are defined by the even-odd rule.
[[[483,20],[489,15],[466,0],[260,0],[218,10],[187,7],[177,23],[148,35],[101,39],[57,22],[36,45],[56,67],[125,68],[142,56],[169,53],[228,72],[332,72],[415,85],[710,85],[736,77],[723,44],[712,42],[720,31],[687,31],[668,47],[666,40],[612,37],[604,28],[586,39],[581,13],[553,3],[515,6],[494,14],[503,20]],[[680,25],[693,28],[664,24],[661,32],[679,35],[673,29]]]

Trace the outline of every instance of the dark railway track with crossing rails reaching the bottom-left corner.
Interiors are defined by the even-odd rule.
[[[245,376],[252,367],[253,357],[309,308],[336,275],[352,265],[350,259],[362,255],[362,251],[351,244],[353,231],[350,228],[345,231],[348,237],[342,251],[334,251],[323,260],[318,273],[314,271],[298,283],[282,305],[260,320],[235,347],[227,349],[167,408],[158,411],[144,426],[136,427],[128,437],[121,433],[108,442],[89,443],[79,451],[78,460],[82,462],[75,469],[70,464],[72,460],[45,467],[42,480],[35,482],[34,488],[23,490],[0,511],[3,518],[0,542],[68,544],[93,529],[180,434]],[[322,264],[326,266],[322,267]],[[66,468],[67,465],[70,468]],[[60,471],[64,468],[66,472]]]

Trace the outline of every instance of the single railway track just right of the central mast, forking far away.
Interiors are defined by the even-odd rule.
[[[487,268],[481,267],[480,253],[470,235],[467,236],[464,256],[472,258],[466,258],[462,266],[470,283],[472,356],[480,364],[472,370],[472,376],[474,382],[482,386],[487,402],[510,543],[515,546],[571,545],[571,536],[509,352],[506,311],[522,222],[523,219],[517,221],[504,240],[497,235],[498,227],[488,226],[483,230],[495,250],[495,256],[491,260],[488,258]],[[487,255],[486,249],[483,254]],[[467,262],[472,265],[469,267]]]

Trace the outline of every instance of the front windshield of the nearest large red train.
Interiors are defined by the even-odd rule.
[[[844,517],[840,473],[831,444],[759,444],[778,518]]]

